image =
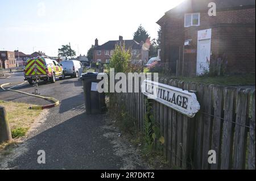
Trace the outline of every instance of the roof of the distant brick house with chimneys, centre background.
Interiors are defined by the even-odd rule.
[[[113,50],[113,49],[115,49],[115,45],[117,45],[118,43],[120,43],[119,40],[108,41],[107,43],[105,43],[103,45],[95,47],[94,50]],[[131,48],[131,49],[141,49],[142,48],[142,45],[139,44],[135,40],[123,40],[123,43],[125,43],[125,46],[127,48]]]

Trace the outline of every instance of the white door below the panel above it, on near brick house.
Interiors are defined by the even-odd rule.
[[[202,75],[210,70],[210,39],[199,40],[197,45],[196,74]]]

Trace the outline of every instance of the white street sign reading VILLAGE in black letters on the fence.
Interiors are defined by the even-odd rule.
[[[154,99],[188,117],[195,117],[196,113],[200,110],[196,94],[177,87],[146,79],[142,83],[142,93],[149,99]]]

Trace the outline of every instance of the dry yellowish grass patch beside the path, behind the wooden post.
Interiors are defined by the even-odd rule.
[[[24,103],[3,102],[0,100],[0,106],[5,107],[13,138],[26,136],[28,129],[42,112],[42,110],[28,110],[31,105]]]

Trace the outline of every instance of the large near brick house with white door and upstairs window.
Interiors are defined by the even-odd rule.
[[[209,16],[210,2],[216,16]],[[255,0],[187,0],[157,22],[170,73],[255,73]]]

